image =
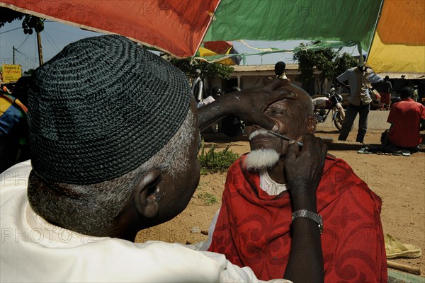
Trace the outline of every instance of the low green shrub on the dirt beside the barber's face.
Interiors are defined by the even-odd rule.
[[[230,151],[232,144],[226,146],[225,150],[215,152],[215,146],[212,144],[208,152],[205,151],[204,141],[202,140],[200,155],[198,160],[200,163],[200,173],[207,175],[208,173],[225,173],[227,169],[239,158],[238,154]]]

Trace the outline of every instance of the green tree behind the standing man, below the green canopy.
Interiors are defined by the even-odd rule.
[[[302,50],[309,45],[315,45],[319,41],[310,42],[305,45],[300,44],[300,50],[294,52],[293,59],[298,62],[300,75],[297,80],[302,83],[309,83],[314,80],[314,69],[320,71],[318,79],[315,81],[317,88],[323,93],[323,84],[325,79],[335,80],[336,76],[342,74],[346,69],[356,66],[357,60],[351,57],[350,54],[344,52],[339,54],[338,51],[331,48],[322,50]]]

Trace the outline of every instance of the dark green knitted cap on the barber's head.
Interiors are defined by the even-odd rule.
[[[174,136],[190,98],[179,69],[125,37],[74,42],[35,71],[28,110],[33,170],[71,184],[128,173]]]

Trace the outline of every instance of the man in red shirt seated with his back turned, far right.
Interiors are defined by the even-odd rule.
[[[416,152],[422,141],[419,131],[425,129],[425,106],[414,102],[412,88],[404,87],[399,94],[402,100],[391,106],[388,115],[391,127],[387,141],[398,149]]]

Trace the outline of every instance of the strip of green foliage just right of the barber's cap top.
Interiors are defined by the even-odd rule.
[[[204,78],[220,78],[229,79],[230,74],[233,72],[233,67],[223,65],[220,63],[208,63],[204,61],[192,62],[189,59],[170,59],[171,64],[181,69],[187,75],[195,74],[196,69],[200,69],[201,76]]]

